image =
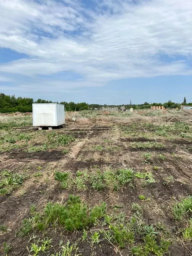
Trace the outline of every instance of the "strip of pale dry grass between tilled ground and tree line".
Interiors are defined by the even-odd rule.
[[[192,111],[190,110],[168,110],[168,111],[134,111],[131,112],[111,112],[106,115],[102,111],[81,111],[81,112],[66,112],[66,123],[73,123],[72,118],[76,117],[76,125],[90,124],[113,124],[113,123],[132,123],[132,122],[177,122],[185,121],[192,122]],[[0,128],[4,127],[24,127],[32,125],[32,116],[24,115],[0,115]]]

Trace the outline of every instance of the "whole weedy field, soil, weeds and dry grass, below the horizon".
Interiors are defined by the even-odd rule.
[[[192,255],[191,175],[191,111],[0,116],[1,255]]]

